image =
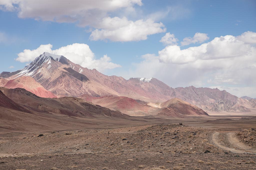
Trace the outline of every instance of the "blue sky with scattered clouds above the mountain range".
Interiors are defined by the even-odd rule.
[[[40,1],[43,3],[41,5],[30,0],[24,0],[18,4],[12,4],[11,1],[9,3],[8,1],[0,2],[0,72],[12,72],[25,67],[26,63],[33,59],[32,54],[20,54],[29,57],[26,60],[15,60],[24,49],[34,50],[40,45],[51,44],[51,50],[55,50],[79,43],[87,44],[93,57],[87,63],[85,61],[79,62],[79,59],[74,61],[77,61],[78,64],[83,63],[88,68],[95,67],[107,75],[118,75],[125,79],[129,79],[129,77],[156,77],[172,87],[190,85],[218,87],[239,97],[243,95],[256,97],[256,77],[252,75],[256,71],[255,42],[254,39],[249,40],[255,36],[254,33],[256,32],[256,1],[198,0],[161,1],[159,3],[160,1],[153,0],[123,0],[121,4],[115,4],[114,7],[108,6],[111,1],[105,1],[107,5],[91,4],[92,8],[83,9],[84,11],[87,10],[86,12],[79,12],[81,10],[79,6],[89,6],[86,4],[88,1],[83,1],[78,6],[76,3],[79,2],[73,1],[74,5],[72,4],[71,7],[51,4],[50,1]],[[26,11],[24,6],[31,7],[34,11]],[[78,13],[69,11],[63,14],[61,12],[68,11],[70,8],[74,8],[73,11],[78,11]],[[94,12],[97,12],[97,15]],[[92,16],[88,17],[91,14]],[[113,26],[115,28],[109,28],[111,25],[109,20],[103,22],[107,17],[111,22],[116,19],[114,17],[118,17],[118,22]],[[147,19],[152,22],[146,22]],[[142,24],[146,26],[140,28],[141,26],[137,25],[132,31],[136,32],[140,29],[143,31],[138,31],[135,35],[130,33],[128,37],[120,38],[127,34],[125,31],[127,29],[122,23],[137,22],[138,20],[143,20]],[[118,29],[123,26],[125,27],[122,29],[124,31],[121,30],[120,32]],[[146,27],[150,28],[147,29]],[[92,36],[96,29],[100,33],[95,33],[94,35],[97,36]],[[109,31],[112,31],[111,36],[107,35]],[[241,36],[245,32],[247,33]],[[166,33],[173,34],[179,41],[169,44],[159,42]],[[196,33],[203,33],[206,38],[200,34],[199,39],[202,39],[193,39]],[[234,56],[230,53],[223,57],[221,54],[212,52],[218,46],[208,50],[207,56],[201,53],[195,55],[194,52],[191,52],[192,55],[187,51],[182,51],[189,47],[194,48],[209,43],[215,37],[226,35],[232,35],[236,39],[235,41],[238,40],[243,43],[229,46],[230,49],[227,49],[229,47],[223,48],[223,50],[232,50],[234,47],[234,51],[240,49],[240,51],[236,51],[236,54],[240,54],[241,51],[250,49],[252,50],[250,54],[241,52],[240,55]],[[186,43],[188,45],[181,45],[185,37],[191,37]],[[230,37],[226,39],[230,43]],[[220,48],[223,47],[219,41],[212,42],[212,44],[219,44]],[[179,47],[180,50],[174,47]],[[74,47],[74,49],[77,48]],[[88,55],[92,55],[90,50]],[[160,54],[159,51],[162,53]],[[182,56],[178,55],[180,51]],[[59,54],[60,51],[55,51],[55,53]],[[142,57],[145,54],[148,55]],[[104,55],[111,58],[111,61],[109,59],[100,60]],[[184,55],[185,58],[183,58]],[[80,54],[77,54],[76,57],[79,56],[84,57]],[[234,61],[236,63],[244,61],[241,62],[243,67],[238,68],[238,70],[240,69],[239,73],[231,66],[234,65],[232,63]],[[109,64],[110,62],[112,64]],[[219,65],[221,62],[230,64],[225,67]],[[202,67],[202,65],[207,64],[215,67]],[[9,68],[10,66],[14,68]],[[241,76],[243,78],[239,78]]]

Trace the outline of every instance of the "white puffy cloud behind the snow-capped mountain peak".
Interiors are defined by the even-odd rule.
[[[87,67],[89,69],[95,68],[99,71],[121,67],[119,64],[110,62],[111,58],[107,55],[104,55],[100,59],[95,59],[95,55],[91,51],[90,47],[87,44],[79,43],[60,47],[55,50],[52,50],[51,44],[40,45],[37,49],[34,50],[25,49],[23,52],[18,54],[16,60],[20,62],[30,62],[44,52],[62,55],[75,64],[79,64],[80,66]]]

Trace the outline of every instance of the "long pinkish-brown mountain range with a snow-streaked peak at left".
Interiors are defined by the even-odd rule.
[[[106,76],[96,69],[90,70],[74,64],[64,56],[46,52],[23,70],[2,72],[0,77],[0,86],[24,88],[40,97],[88,98],[89,96],[96,99],[104,96],[123,96],[134,99],[136,102],[134,107],[142,103],[142,105],[163,103],[179,98],[205,111],[251,112],[255,109],[256,101],[248,97],[238,98],[217,88],[196,88],[194,86],[172,88],[155,78],[125,80],[123,77]],[[104,104],[106,107],[107,105],[111,104]],[[144,109],[149,109],[147,106],[144,106]]]

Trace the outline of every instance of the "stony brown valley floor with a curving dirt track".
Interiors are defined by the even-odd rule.
[[[137,119],[98,129],[1,132],[0,169],[256,169],[253,116]]]

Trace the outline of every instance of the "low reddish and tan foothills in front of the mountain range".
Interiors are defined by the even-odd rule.
[[[91,97],[82,96],[81,98],[88,100],[100,106],[118,110],[122,113],[132,116],[146,116],[146,115],[162,115],[169,117],[185,117],[185,116],[205,116],[208,115],[202,109],[189,104],[178,98],[167,100],[163,103],[148,103],[140,104],[132,98],[104,96]]]

